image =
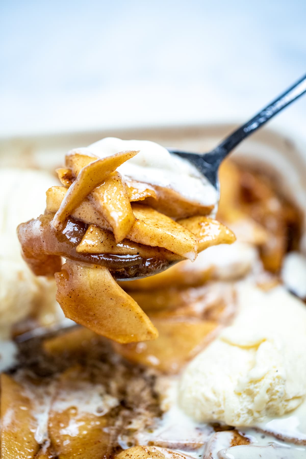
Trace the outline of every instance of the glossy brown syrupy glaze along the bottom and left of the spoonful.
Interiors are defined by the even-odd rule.
[[[170,265],[164,258],[76,252],[87,225],[69,218],[65,228],[57,231],[52,225],[53,217],[52,213],[40,215],[39,218],[18,226],[23,257],[36,275],[52,275],[60,271],[61,257],[106,266],[115,278],[121,280],[156,273]]]

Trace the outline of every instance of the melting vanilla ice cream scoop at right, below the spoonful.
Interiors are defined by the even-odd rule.
[[[179,403],[197,421],[248,426],[306,397],[306,307],[283,287],[238,287],[234,323],[191,361]]]

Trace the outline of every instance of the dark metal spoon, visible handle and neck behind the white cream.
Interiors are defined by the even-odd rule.
[[[242,140],[261,128],[267,121],[305,92],[306,75],[279,95],[274,101],[265,106],[265,108],[258,112],[253,118],[232,132],[232,134],[222,140],[219,145],[208,153],[188,153],[186,151],[177,150],[176,148],[168,148],[168,151],[191,162],[200,173],[208,179],[211,185],[219,191],[218,169],[223,159],[227,157]]]

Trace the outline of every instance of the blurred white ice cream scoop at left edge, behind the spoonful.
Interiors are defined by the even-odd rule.
[[[55,178],[37,170],[0,170],[0,336],[26,317],[33,308],[50,302],[54,280],[36,277],[21,256],[16,229],[19,223],[36,218],[45,210],[45,192]],[[52,299],[53,303],[55,299]]]

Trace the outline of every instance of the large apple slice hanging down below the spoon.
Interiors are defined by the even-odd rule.
[[[56,300],[69,319],[121,343],[158,336],[148,316],[119,287],[108,269],[67,260],[55,277]]]

